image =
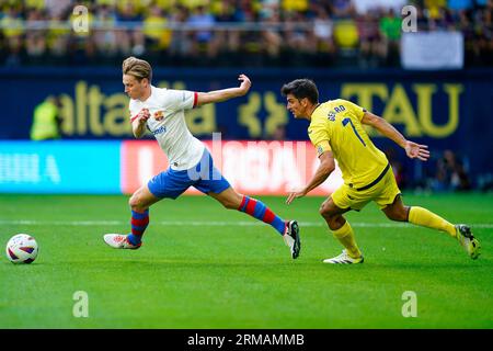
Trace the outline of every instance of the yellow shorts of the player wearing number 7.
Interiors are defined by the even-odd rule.
[[[343,184],[332,194],[332,201],[340,208],[351,208],[359,211],[370,201],[375,201],[380,210],[390,205],[401,191],[395,182],[392,169],[389,168],[383,178],[374,186],[357,191]]]

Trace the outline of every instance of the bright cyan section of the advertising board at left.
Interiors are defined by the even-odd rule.
[[[121,141],[0,140],[0,192],[119,193]]]

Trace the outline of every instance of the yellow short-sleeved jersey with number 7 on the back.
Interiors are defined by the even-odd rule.
[[[374,182],[389,163],[363,128],[365,112],[351,101],[329,100],[317,106],[308,127],[318,155],[332,151],[344,183],[355,189]]]

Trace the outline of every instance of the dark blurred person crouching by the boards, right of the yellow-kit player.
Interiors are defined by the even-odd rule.
[[[465,191],[471,184],[463,162],[451,150],[445,150],[436,165],[435,179],[432,181],[434,191]]]

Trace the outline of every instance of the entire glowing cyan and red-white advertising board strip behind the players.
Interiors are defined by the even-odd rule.
[[[280,195],[308,183],[319,165],[309,141],[205,141],[236,190]],[[0,192],[131,194],[168,168],[154,140],[0,141]],[[309,195],[342,184],[339,168]],[[186,194],[200,194],[190,188]]]

